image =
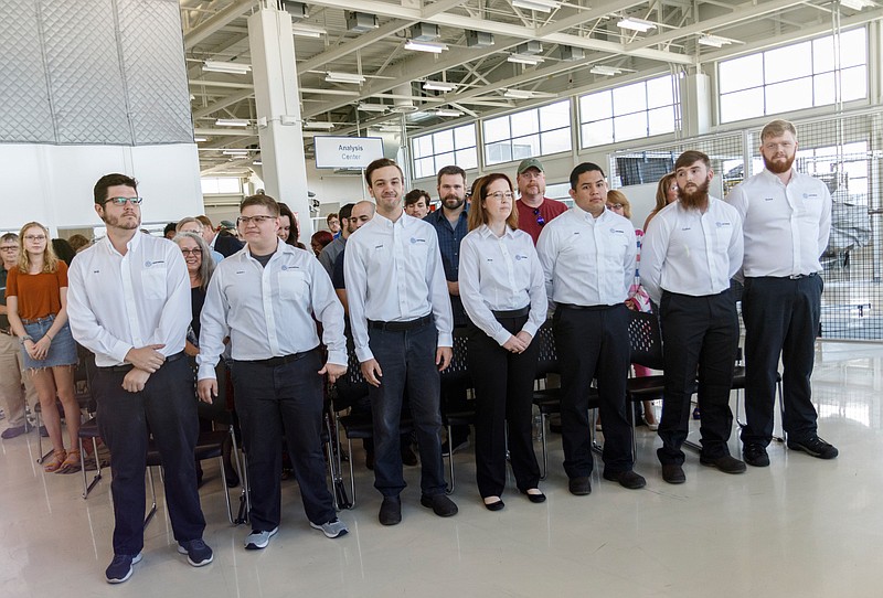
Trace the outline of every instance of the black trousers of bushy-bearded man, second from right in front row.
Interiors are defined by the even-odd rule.
[[[738,316],[733,296],[730,289],[703,297],[663,291],[659,309],[666,367],[659,461],[683,463],[681,446],[689,431],[696,373],[702,456],[716,459],[730,455],[726,445],[733,428],[730,391],[738,346]]]

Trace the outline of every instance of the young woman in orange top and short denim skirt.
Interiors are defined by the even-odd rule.
[[[54,448],[43,464],[47,472],[79,469],[79,406],[74,397],[76,344],[67,324],[67,265],[52,250],[49,231],[38,222],[19,234],[19,265],[9,270],[9,323],[22,346],[22,359],[40,397],[40,408]],[[71,450],[64,450],[55,396],[64,407]]]

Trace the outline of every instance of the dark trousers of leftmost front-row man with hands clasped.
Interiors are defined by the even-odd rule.
[[[135,555],[143,547],[148,427],[162,458],[174,540],[201,538],[205,519],[193,459],[199,424],[190,365],[184,359],[164,363],[140,393],[123,389],[129,370],[97,367],[93,394],[98,404],[98,430],[111,456],[114,554]]]

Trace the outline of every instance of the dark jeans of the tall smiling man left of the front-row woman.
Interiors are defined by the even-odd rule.
[[[397,496],[406,485],[398,423],[407,388],[421,451],[421,490],[427,496],[443,494],[446,484],[435,324],[428,322],[401,332],[369,328],[368,334],[371,352],[383,371],[381,385],[369,391],[374,420],[374,488],[384,496]]]

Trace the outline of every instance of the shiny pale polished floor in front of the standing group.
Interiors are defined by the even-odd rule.
[[[820,434],[840,449],[833,461],[774,444],[770,467],[727,476],[689,452],[687,483],[669,485],[655,457],[659,440],[645,428],[636,470],[646,489],[625,490],[596,471],[592,494],[573,496],[553,435],[545,503],[528,502],[510,480],[506,509],[485,510],[467,449],[456,456],[458,515],[422,508],[418,468],[407,468],[404,521],[383,527],[358,450],[359,504],[340,513],[350,534],[332,541],[311,530],[287,481],[283,526],[257,552],[242,548],[245,525],[227,523],[210,464],[201,494],[214,563],[187,564],[160,504],[145,558],[121,586],[104,580],[109,476],[83,500],[79,476],[44,474],[34,462],[31,433],[0,442],[0,596],[881,596],[883,346],[821,345],[813,387]],[[735,439],[731,447],[738,450]]]

